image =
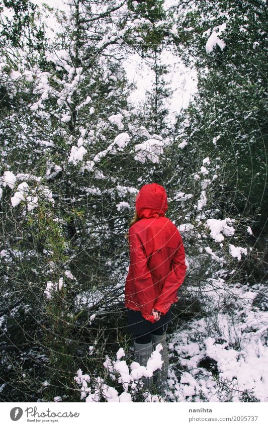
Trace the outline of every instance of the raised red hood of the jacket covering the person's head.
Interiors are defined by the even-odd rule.
[[[156,183],[145,184],[137,194],[135,206],[140,219],[164,216],[167,210],[165,189]]]

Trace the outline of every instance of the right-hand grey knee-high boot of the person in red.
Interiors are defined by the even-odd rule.
[[[164,392],[166,388],[166,381],[167,381],[167,372],[168,372],[168,347],[166,343],[166,332],[163,333],[163,335],[154,335],[151,333],[152,340],[153,340],[153,347],[154,350],[157,346],[157,344],[162,344],[163,350],[160,351],[160,354],[162,356],[163,364],[161,367],[161,370],[158,370],[154,372],[153,376],[153,382],[155,383],[156,387],[158,388],[160,394]]]

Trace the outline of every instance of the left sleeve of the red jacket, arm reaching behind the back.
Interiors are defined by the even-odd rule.
[[[131,230],[131,227],[129,229],[129,256],[139,309],[146,320],[154,323],[154,316],[151,314],[154,303],[153,281],[147,267],[147,258],[140,237]]]

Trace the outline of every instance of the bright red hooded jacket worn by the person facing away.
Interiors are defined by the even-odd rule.
[[[177,227],[164,216],[167,197],[162,186],[144,185],[135,204],[140,220],[129,228],[125,306],[154,323],[153,308],[165,314],[178,300],[187,269],[185,249]]]

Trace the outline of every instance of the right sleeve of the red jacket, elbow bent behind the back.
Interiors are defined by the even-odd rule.
[[[161,311],[163,314],[165,314],[169,310],[170,305],[175,302],[174,299],[176,298],[177,300],[177,290],[183,284],[186,275],[185,249],[180,233],[179,237],[178,248],[171,261],[171,271],[166,276],[162,291],[153,306],[153,308]]]

